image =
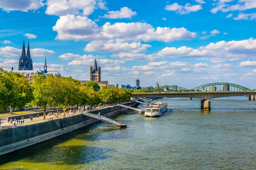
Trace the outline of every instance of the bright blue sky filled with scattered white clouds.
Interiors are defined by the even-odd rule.
[[[255,0],[1,0],[0,67],[17,69],[29,42],[35,70],[189,88],[230,82],[255,89]]]

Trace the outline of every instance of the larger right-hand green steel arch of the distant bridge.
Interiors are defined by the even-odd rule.
[[[196,88],[193,88],[192,91],[199,91],[199,90],[207,90],[206,88],[210,87],[210,86],[220,86],[219,88],[222,88],[222,86],[225,86],[225,90],[224,91],[231,91],[230,90],[230,87],[233,87],[235,88],[236,90],[233,90],[233,91],[238,91],[241,90],[241,91],[252,91],[251,89],[249,88],[246,88],[244,86],[241,86],[241,85],[236,85],[236,84],[233,84],[233,83],[228,83],[228,82],[214,82],[214,83],[208,83],[208,84],[205,84],[205,85],[200,85]],[[219,89],[220,90],[220,89]],[[222,89],[221,89],[222,90]]]

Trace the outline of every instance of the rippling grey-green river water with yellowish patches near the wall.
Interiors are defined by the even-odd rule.
[[[256,101],[161,99],[159,118],[122,114],[116,129],[103,122],[0,157],[0,170],[256,169]],[[1,136],[2,138],[3,136]]]

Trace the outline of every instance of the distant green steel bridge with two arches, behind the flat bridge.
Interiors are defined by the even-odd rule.
[[[256,91],[256,89],[249,89],[242,85],[236,85],[228,82],[214,82],[205,85],[200,85],[193,89],[183,88],[177,85],[164,85],[153,88],[154,91],[211,91],[211,87],[215,87],[215,91]]]

